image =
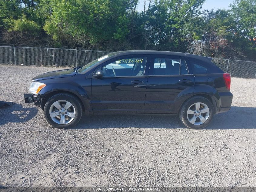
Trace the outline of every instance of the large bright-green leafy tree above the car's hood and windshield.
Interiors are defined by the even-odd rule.
[[[65,30],[73,37],[88,37],[91,44],[124,39],[128,33],[125,0],[52,0],[52,14],[44,29]]]

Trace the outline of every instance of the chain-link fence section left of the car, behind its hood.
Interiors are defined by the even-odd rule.
[[[108,53],[81,49],[0,46],[0,64],[77,67]]]

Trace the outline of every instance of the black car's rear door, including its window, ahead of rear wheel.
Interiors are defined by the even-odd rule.
[[[145,113],[177,113],[184,100],[193,96],[194,76],[187,62],[183,57],[151,56]]]

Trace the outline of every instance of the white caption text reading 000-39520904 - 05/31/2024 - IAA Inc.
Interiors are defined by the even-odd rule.
[[[159,191],[155,187],[93,187],[94,191]]]

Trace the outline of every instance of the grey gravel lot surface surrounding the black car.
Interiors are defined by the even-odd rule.
[[[84,116],[62,130],[23,98],[59,68],[0,69],[0,100],[14,102],[0,109],[2,186],[255,186],[255,79],[231,78],[231,110],[204,130],[177,116]]]

